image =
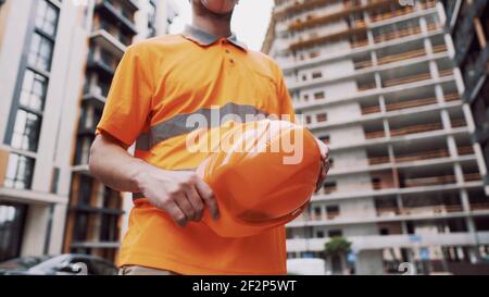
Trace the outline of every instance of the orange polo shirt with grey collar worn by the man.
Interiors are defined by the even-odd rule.
[[[248,50],[235,35],[216,38],[187,26],[128,48],[112,82],[97,133],[127,146],[135,157],[165,170],[196,169],[208,156],[186,149],[190,115],[212,121],[228,114],[288,114],[293,108],[280,70]],[[209,123],[218,126],[218,123]],[[118,265],[181,274],[285,274],[285,227],[256,236],[224,238],[204,223],[178,226],[147,199],[135,200]]]

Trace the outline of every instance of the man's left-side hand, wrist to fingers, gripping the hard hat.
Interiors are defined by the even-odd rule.
[[[218,219],[217,202],[212,189],[191,171],[165,171],[153,168],[140,173],[139,188],[150,202],[185,226],[200,222],[204,206],[214,220]]]

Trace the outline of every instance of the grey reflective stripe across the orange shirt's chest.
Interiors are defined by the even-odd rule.
[[[196,128],[210,128],[220,126],[224,116],[237,116],[242,123],[248,116],[268,114],[253,106],[236,104],[229,102],[218,109],[203,108],[189,114],[178,114],[171,120],[161,122],[150,128],[149,133],[143,133],[136,141],[136,149],[150,150],[153,146],[175,136],[188,134]],[[238,120],[236,119],[236,120]],[[229,119],[231,120],[231,119]],[[204,123],[201,123],[204,122]],[[203,124],[204,126],[202,126]]]

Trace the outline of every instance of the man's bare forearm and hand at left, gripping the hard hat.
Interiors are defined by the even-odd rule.
[[[115,190],[142,193],[181,226],[200,221],[204,207],[214,220],[218,218],[214,194],[197,173],[161,170],[134,158],[126,149],[112,136],[98,135],[90,151],[91,174]]]

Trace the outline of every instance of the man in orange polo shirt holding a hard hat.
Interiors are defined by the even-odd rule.
[[[192,0],[192,26],[129,47],[117,67],[89,164],[108,186],[134,193],[122,274],[286,273],[284,226],[224,238],[201,222],[203,211],[220,218],[212,189],[195,172],[209,153],[186,147],[192,115],[211,127],[220,124],[215,115],[294,121],[276,63],[230,30],[237,2]]]

